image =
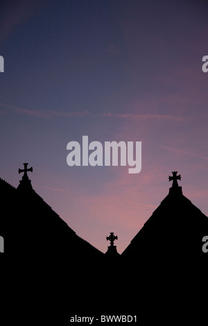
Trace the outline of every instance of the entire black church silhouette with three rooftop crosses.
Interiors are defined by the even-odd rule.
[[[7,261],[12,293],[21,293],[10,303],[15,322],[25,318],[28,323],[32,316],[43,325],[69,325],[75,315],[121,314],[137,315],[140,324],[145,318],[145,325],[168,325],[169,314],[173,322],[184,318],[187,325],[184,302],[193,318],[197,291],[207,279],[202,237],[208,235],[208,219],[182,194],[180,175],[174,171],[169,177],[168,196],[123,253],[117,252],[118,237],[111,232],[104,255],[35,192],[27,175],[33,168],[27,165],[19,169],[24,175],[17,189],[0,179],[1,259]]]

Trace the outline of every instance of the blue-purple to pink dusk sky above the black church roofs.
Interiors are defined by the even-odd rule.
[[[17,187],[28,162],[37,194],[102,252],[110,232],[125,250],[171,171],[208,214],[207,1],[8,0],[0,12],[1,178]],[[83,135],[141,141],[141,172],[67,165]]]

